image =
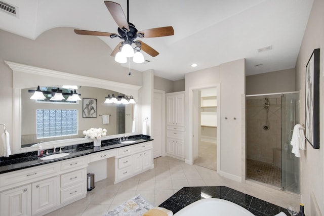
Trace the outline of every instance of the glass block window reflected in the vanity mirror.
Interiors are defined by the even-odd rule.
[[[37,109],[37,139],[77,135],[77,110]]]

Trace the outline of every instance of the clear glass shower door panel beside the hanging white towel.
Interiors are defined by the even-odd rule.
[[[281,94],[281,190],[300,193],[300,160],[290,142],[294,126],[300,123],[298,93]]]

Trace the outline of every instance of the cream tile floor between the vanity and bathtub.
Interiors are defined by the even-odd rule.
[[[57,209],[53,215],[103,215],[135,195],[140,195],[158,206],[183,187],[227,186],[272,204],[287,207],[287,203],[299,205],[299,195],[280,191],[251,181],[240,183],[221,177],[216,171],[197,165],[188,165],[171,157],[154,159],[154,168],[118,184],[105,179],[95,183],[87,197]]]

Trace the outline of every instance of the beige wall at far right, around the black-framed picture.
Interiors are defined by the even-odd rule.
[[[324,215],[324,1],[314,0],[296,63],[296,90],[301,90],[301,122],[305,123],[305,68],[314,49],[320,48],[319,149],[306,143],[301,151],[301,201],[306,215]],[[316,212],[319,206],[321,214]]]

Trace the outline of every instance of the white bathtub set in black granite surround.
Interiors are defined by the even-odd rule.
[[[182,208],[174,214],[175,216],[196,216],[196,215],[246,215],[254,216],[253,213],[233,202],[208,198],[200,199]]]

